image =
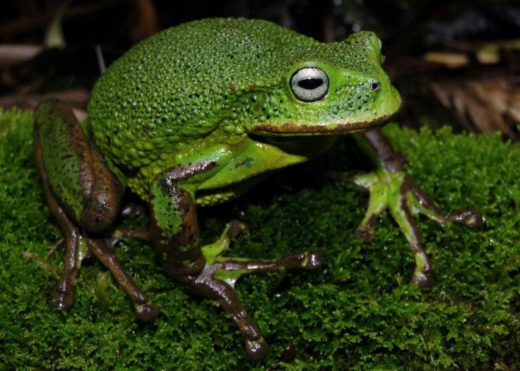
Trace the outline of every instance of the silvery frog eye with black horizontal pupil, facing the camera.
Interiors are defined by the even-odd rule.
[[[300,68],[290,78],[290,89],[298,100],[316,102],[329,92],[329,76],[321,68]]]

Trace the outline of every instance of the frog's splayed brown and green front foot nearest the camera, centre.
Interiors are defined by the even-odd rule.
[[[228,248],[230,238],[243,229],[243,224],[234,221],[229,224],[217,242],[206,245],[202,250],[206,266],[194,276],[175,276],[186,283],[199,295],[218,300],[232,320],[238,325],[244,337],[247,354],[252,359],[264,358],[268,353],[268,344],[261,336],[259,328],[244,310],[235,292],[235,282],[242,274],[276,272],[280,269],[321,267],[323,257],[317,250],[287,255],[278,260],[254,260],[221,257]]]

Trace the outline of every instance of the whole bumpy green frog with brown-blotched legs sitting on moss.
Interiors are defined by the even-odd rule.
[[[384,60],[370,31],[322,43],[266,20],[208,18],[163,30],[114,61],[93,87],[85,121],[58,99],[41,102],[36,165],[65,245],[51,305],[71,308],[87,250],[124,289],[138,320],[158,317],[158,305],[114,253],[114,239],[141,238],[168,276],[220,303],[250,358],[264,358],[268,343],[235,282],[243,274],[319,269],[323,255],[310,249],[278,259],[227,257],[244,224],[232,221],[215,243],[202,245],[196,211],[323,154],[345,135],[375,166],[353,178],[370,191],[356,236],[373,241],[376,221],[389,209],[415,257],[412,281],[430,285],[432,267],[413,214],[468,226],[482,217],[471,209],[443,214],[406,174],[379,130],[401,107]],[[126,192],[147,205],[146,231],[118,228]]]

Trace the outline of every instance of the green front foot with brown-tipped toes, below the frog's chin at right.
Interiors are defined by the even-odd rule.
[[[378,169],[372,173],[354,176],[354,182],[370,191],[368,209],[355,231],[355,236],[366,242],[373,241],[377,218],[388,208],[413,252],[415,272],[412,281],[417,282],[421,287],[433,284],[432,266],[423,249],[413,214],[423,214],[443,226],[450,221],[472,227],[482,223],[482,215],[475,210],[461,210],[449,216],[444,215],[430,197],[403,171],[391,173]]]

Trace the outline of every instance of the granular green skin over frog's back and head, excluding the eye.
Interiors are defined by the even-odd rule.
[[[288,134],[293,124],[332,133],[338,124],[387,118],[398,107],[395,99],[386,107],[384,91],[393,88],[380,64],[372,32],[321,44],[264,20],[191,22],[141,42],[106,71],[88,106],[91,132],[146,197],[162,169],[214,145],[244,145],[266,124]],[[329,74],[326,99],[295,99],[288,80],[298,66]],[[375,80],[382,92],[370,88]]]

